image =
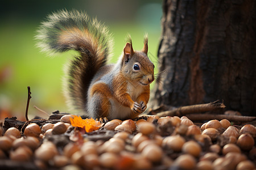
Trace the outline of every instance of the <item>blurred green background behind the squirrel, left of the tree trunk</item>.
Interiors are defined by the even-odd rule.
[[[130,33],[134,49],[143,47],[148,33],[148,56],[157,64],[162,1],[8,1],[0,2],[0,121],[16,116],[24,120],[27,86],[31,87],[28,118],[47,117],[33,106],[50,114],[69,112],[62,94],[63,66],[72,52],[47,57],[35,46],[36,29],[48,14],[66,8],[86,11],[109,26],[114,37],[114,63]]]

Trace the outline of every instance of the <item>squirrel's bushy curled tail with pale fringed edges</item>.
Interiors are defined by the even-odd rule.
[[[108,29],[80,11],[62,10],[47,17],[36,35],[43,52],[54,54],[69,49],[79,52],[68,66],[64,94],[72,108],[85,110],[87,90],[94,74],[106,64],[112,50]]]

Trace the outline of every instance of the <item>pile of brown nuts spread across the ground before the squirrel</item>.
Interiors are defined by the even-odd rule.
[[[113,131],[113,137],[90,141],[70,117],[42,127],[29,124],[24,133],[7,129],[0,137],[0,162],[32,162],[40,169],[256,169],[256,128],[250,124],[224,119],[200,127],[185,116],[149,116],[109,121],[97,131]],[[56,146],[48,140],[53,135],[70,141]]]

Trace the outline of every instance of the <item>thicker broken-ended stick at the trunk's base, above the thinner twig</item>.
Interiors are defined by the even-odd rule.
[[[226,106],[219,102],[219,100],[207,103],[207,104],[196,104],[196,105],[188,105],[184,107],[179,107],[176,109],[173,109],[172,111],[164,111],[156,114],[159,117],[164,116],[183,116],[185,114],[191,114],[191,113],[200,113],[200,112],[208,112],[213,111],[216,109],[223,109]]]

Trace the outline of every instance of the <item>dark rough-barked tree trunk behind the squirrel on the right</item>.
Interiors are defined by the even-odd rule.
[[[224,100],[256,112],[255,1],[166,0],[151,106]]]

